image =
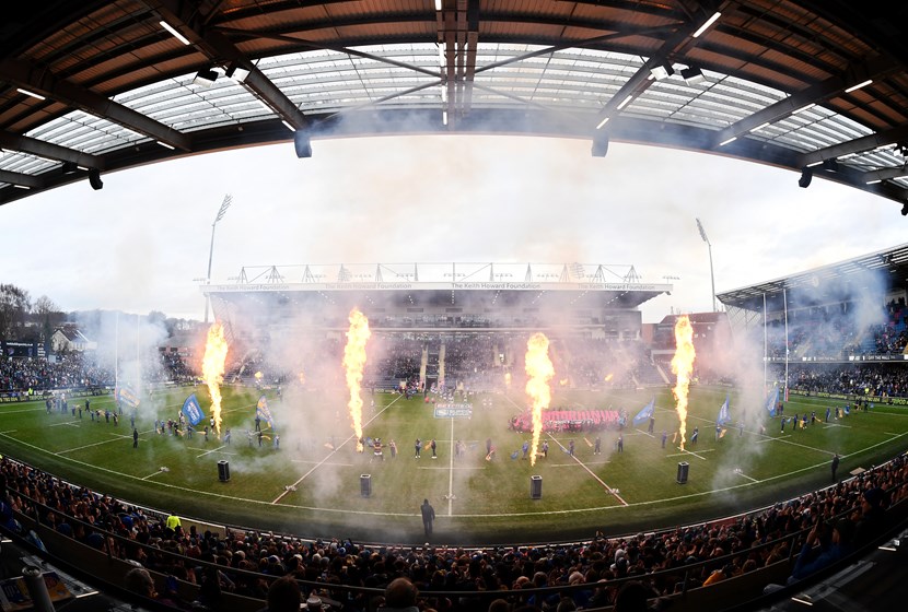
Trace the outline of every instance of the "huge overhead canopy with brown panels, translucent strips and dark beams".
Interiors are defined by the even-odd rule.
[[[904,2],[44,0],[3,13],[0,204],[182,155],[436,132],[583,138],[598,155],[609,141],[689,149],[908,201]]]

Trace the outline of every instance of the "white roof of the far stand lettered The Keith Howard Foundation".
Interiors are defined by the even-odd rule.
[[[398,313],[631,309],[673,289],[642,282],[633,266],[580,262],[256,266],[232,281],[200,289],[234,304],[345,311],[371,305]]]

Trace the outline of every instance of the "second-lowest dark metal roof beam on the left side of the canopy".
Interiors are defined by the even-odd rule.
[[[0,81],[13,83],[46,98],[119,123],[182,151],[193,150],[191,139],[183,132],[69,81],[58,79],[45,67],[20,59],[5,58],[0,60]]]

